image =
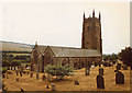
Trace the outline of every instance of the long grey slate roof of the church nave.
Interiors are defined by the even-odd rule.
[[[47,48],[47,46],[37,46],[41,54]],[[101,54],[95,49],[81,49],[74,47],[56,47],[48,46],[55,54],[55,57],[100,57]]]

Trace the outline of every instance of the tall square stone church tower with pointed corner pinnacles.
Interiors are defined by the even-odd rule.
[[[101,14],[99,13],[99,18],[96,18],[95,10],[92,18],[89,15],[86,19],[84,13],[81,48],[97,49],[102,54]]]

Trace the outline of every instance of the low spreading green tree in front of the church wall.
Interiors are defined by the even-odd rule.
[[[51,66],[48,65],[45,68],[45,72],[50,73],[52,75],[56,75],[56,79],[63,79],[65,75],[73,75],[73,68],[68,67],[68,66]]]

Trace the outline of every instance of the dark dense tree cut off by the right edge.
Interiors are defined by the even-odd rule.
[[[125,49],[122,49],[119,54],[120,60],[123,61],[124,65],[131,67],[132,69],[132,48],[125,47]]]

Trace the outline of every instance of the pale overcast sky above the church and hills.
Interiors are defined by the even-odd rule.
[[[0,5],[0,40],[81,47],[82,13],[101,13],[102,51],[130,46],[129,2],[6,2]]]

